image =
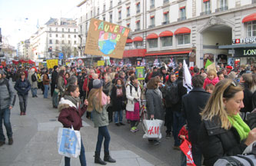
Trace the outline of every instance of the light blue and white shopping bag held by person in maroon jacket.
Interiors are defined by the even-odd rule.
[[[81,151],[80,131],[74,128],[58,128],[58,154],[77,158]]]

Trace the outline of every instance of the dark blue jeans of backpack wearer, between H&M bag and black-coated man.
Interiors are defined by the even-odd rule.
[[[181,140],[178,139],[178,133],[181,128],[185,125],[185,118],[182,116],[181,112],[174,111],[173,112],[173,137],[175,138],[175,146],[179,146],[181,144]]]

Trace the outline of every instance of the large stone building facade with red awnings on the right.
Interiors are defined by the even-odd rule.
[[[131,28],[124,59],[133,64],[142,58],[148,65],[185,59],[200,68],[208,58],[224,65],[256,63],[255,0],[87,0],[78,7],[81,53],[90,19],[98,18]]]

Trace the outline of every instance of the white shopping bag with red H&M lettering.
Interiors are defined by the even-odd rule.
[[[162,124],[163,121],[159,119],[143,120],[143,129],[145,131],[143,138],[161,139]]]

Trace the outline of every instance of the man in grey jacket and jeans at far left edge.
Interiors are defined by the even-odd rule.
[[[5,71],[0,70],[0,147],[5,144],[5,135],[2,128],[4,121],[6,133],[8,136],[8,144],[13,144],[12,125],[10,122],[10,111],[14,106],[15,93],[12,83],[4,78]]]

